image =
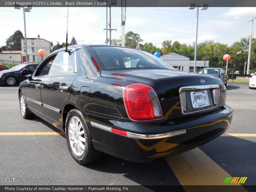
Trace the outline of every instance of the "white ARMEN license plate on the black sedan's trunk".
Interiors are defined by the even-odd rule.
[[[193,108],[209,106],[207,91],[190,92],[190,98]]]

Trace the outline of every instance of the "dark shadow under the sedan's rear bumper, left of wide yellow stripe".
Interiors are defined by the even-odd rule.
[[[149,163],[135,163],[103,153],[98,161],[84,167],[100,172],[121,174],[140,185],[180,185],[164,158],[157,158]],[[111,174],[109,174],[109,180],[111,180]],[[119,185],[120,183],[109,184]]]

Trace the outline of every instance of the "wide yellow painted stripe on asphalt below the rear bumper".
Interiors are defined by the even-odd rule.
[[[184,185],[185,191],[201,191],[200,187],[198,189],[193,188],[192,190],[186,185],[229,185],[223,184],[223,181],[226,177],[231,177],[230,174],[199,148],[175,156],[167,156],[166,161],[180,181],[180,184]],[[246,191],[241,185],[237,186],[236,190]],[[236,190],[232,188],[232,191]],[[225,188],[225,191],[230,191],[230,188]]]

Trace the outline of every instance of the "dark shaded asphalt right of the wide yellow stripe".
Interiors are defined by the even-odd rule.
[[[256,140],[233,136],[220,136],[200,147],[232,177],[248,177],[243,185],[248,191],[256,184]],[[223,178],[224,180],[225,178]],[[250,185],[250,186],[249,186]]]

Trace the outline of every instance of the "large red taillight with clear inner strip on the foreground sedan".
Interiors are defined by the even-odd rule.
[[[146,121],[163,118],[155,91],[144,84],[124,87],[124,105],[130,119]]]

